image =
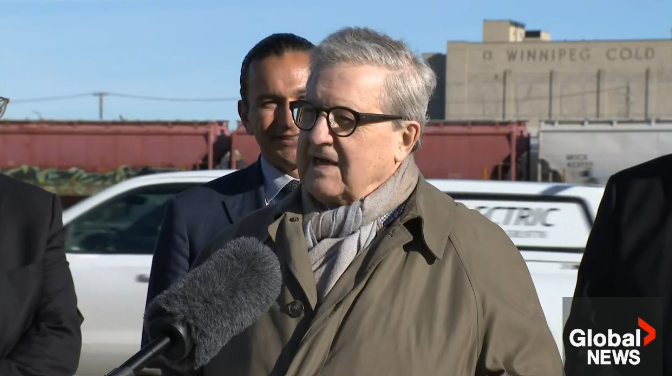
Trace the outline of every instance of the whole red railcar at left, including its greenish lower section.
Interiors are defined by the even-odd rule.
[[[227,121],[0,121],[0,173],[62,196],[129,177],[214,168]]]

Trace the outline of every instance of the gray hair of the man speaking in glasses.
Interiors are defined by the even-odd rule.
[[[402,41],[361,27],[346,27],[327,36],[311,53],[309,85],[321,68],[337,64],[373,65],[390,71],[385,81],[381,109],[420,123],[421,135],[429,120],[427,107],[436,88],[436,74]],[[402,125],[398,122],[397,125]],[[414,146],[415,151],[420,144]]]

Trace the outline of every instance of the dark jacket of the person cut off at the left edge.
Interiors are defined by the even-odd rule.
[[[83,318],[55,195],[0,174],[0,375],[73,375]]]

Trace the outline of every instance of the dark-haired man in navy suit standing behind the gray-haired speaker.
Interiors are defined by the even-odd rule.
[[[154,251],[147,304],[182,278],[214,236],[231,223],[279,201],[298,185],[296,142],[289,102],[301,98],[313,44],[294,34],[273,34],[245,56],[238,114],[259,144],[250,166],[182,192],[168,201]],[[143,333],[143,346],[147,343]]]

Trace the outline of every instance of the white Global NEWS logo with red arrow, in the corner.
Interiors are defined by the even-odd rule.
[[[593,333],[592,329],[574,329],[569,333],[569,343],[588,350],[589,365],[637,365],[641,361],[640,349],[656,338],[656,330],[641,318],[634,333],[623,335],[608,329],[607,333]],[[642,331],[646,336],[642,338]]]

